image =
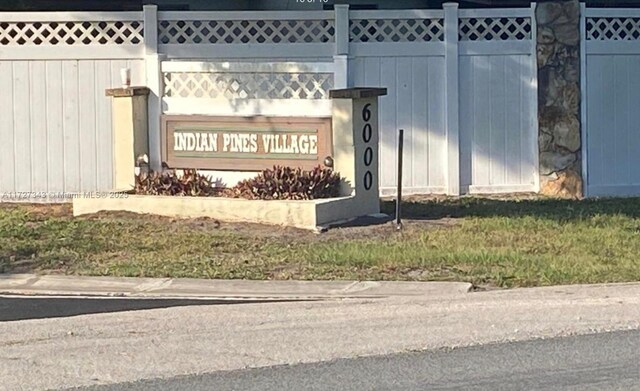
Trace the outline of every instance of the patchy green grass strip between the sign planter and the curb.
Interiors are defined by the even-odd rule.
[[[383,203],[391,213],[393,204]],[[247,279],[640,280],[640,199],[407,202],[392,225],[304,231],[0,204],[0,272]]]

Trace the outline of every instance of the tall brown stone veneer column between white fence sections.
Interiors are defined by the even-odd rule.
[[[581,198],[580,4],[536,6],[540,192]]]

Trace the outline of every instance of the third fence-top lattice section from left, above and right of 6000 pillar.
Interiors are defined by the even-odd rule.
[[[444,39],[443,19],[354,19],[351,42],[430,42]]]

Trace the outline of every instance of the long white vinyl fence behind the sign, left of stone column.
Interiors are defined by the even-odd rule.
[[[533,9],[0,14],[0,192],[112,186],[104,90],[132,68],[160,116],[327,116],[328,91],[386,87],[380,186],[537,190]]]

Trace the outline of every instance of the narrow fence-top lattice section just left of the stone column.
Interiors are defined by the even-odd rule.
[[[461,41],[524,41],[531,39],[531,18],[461,18]]]

